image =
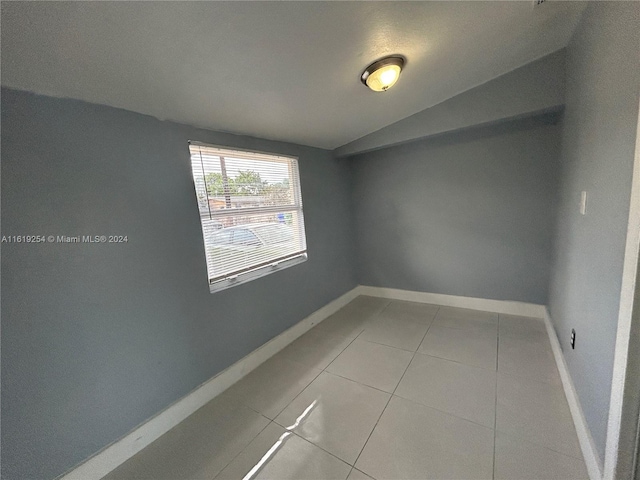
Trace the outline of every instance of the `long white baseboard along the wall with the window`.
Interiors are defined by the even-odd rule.
[[[210,378],[155,417],[139,425],[120,440],[62,475],[61,480],[99,480],[104,477],[358,295],[359,287],[356,287],[316,310],[301,322]]]

